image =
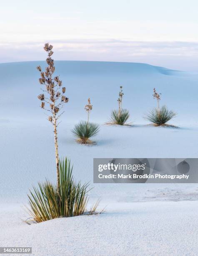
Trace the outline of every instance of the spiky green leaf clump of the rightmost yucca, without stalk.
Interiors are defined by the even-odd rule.
[[[163,105],[160,110],[158,110],[158,108],[151,110],[150,113],[145,116],[145,119],[157,126],[160,126],[165,125],[165,123],[174,118],[176,115],[176,113],[174,113],[172,110],[168,110],[168,108]]]

